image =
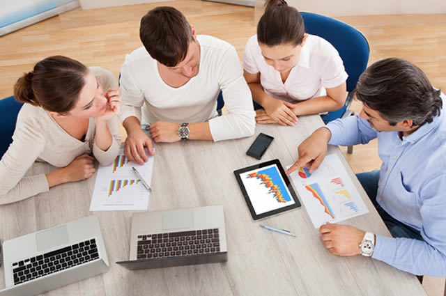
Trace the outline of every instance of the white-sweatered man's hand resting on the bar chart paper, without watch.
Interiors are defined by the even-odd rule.
[[[127,139],[125,140],[124,154],[128,157],[130,162],[144,164],[144,162],[148,161],[148,156],[146,155],[144,147],[147,147],[148,154],[155,155],[155,153],[153,153],[151,138],[141,130],[141,127],[128,133]]]

